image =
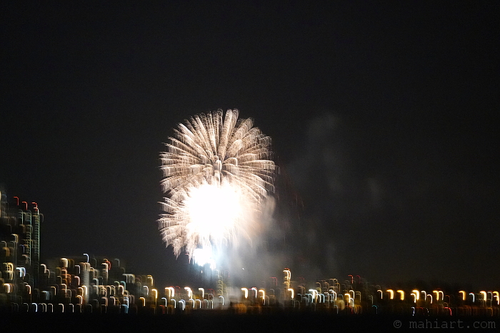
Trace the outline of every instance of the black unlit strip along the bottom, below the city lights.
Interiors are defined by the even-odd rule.
[[[1,332],[414,332],[416,329],[500,329],[499,317],[408,317],[311,313],[8,314]],[[5,329],[5,331],[4,331]],[[439,331],[441,332],[441,331]]]

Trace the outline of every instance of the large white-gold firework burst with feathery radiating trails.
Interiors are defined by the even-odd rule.
[[[274,191],[271,138],[238,110],[199,114],[179,124],[161,153],[164,178],[159,229],[179,256],[238,245],[259,232],[259,212]]]

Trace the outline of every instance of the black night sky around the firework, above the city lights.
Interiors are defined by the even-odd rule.
[[[39,203],[44,257],[179,279],[155,222],[162,143],[238,108],[273,138],[292,274],[500,287],[498,1],[14,2],[0,183]]]

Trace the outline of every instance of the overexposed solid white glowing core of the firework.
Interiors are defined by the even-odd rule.
[[[231,185],[204,184],[191,188],[189,197],[184,200],[189,215],[186,225],[189,236],[198,238],[204,247],[231,242],[234,232],[244,214],[241,195]]]

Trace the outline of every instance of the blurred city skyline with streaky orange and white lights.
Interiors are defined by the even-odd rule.
[[[196,269],[201,269],[201,275],[206,270],[205,276],[195,282],[197,288],[189,277],[181,286],[163,288],[152,275],[127,272],[119,258],[109,260],[108,256],[85,253],[40,262],[39,229],[44,215],[36,203],[29,207],[18,197],[9,203],[7,197],[0,193],[0,312],[10,313],[8,323],[10,319],[15,321],[19,312],[165,315],[216,310],[219,315],[318,312],[329,316],[462,318],[500,315],[498,290],[472,290],[470,286],[449,283],[386,285],[359,275],[349,275],[346,280],[326,277],[306,281],[304,277],[292,278],[291,270],[285,267],[281,277],[264,277],[241,287],[241,280],[231,277],[231,272],[206,263]],[[400,324],[400,320],[394,322],[396,328]],[[496,322],[487,325],[496,327]]]

